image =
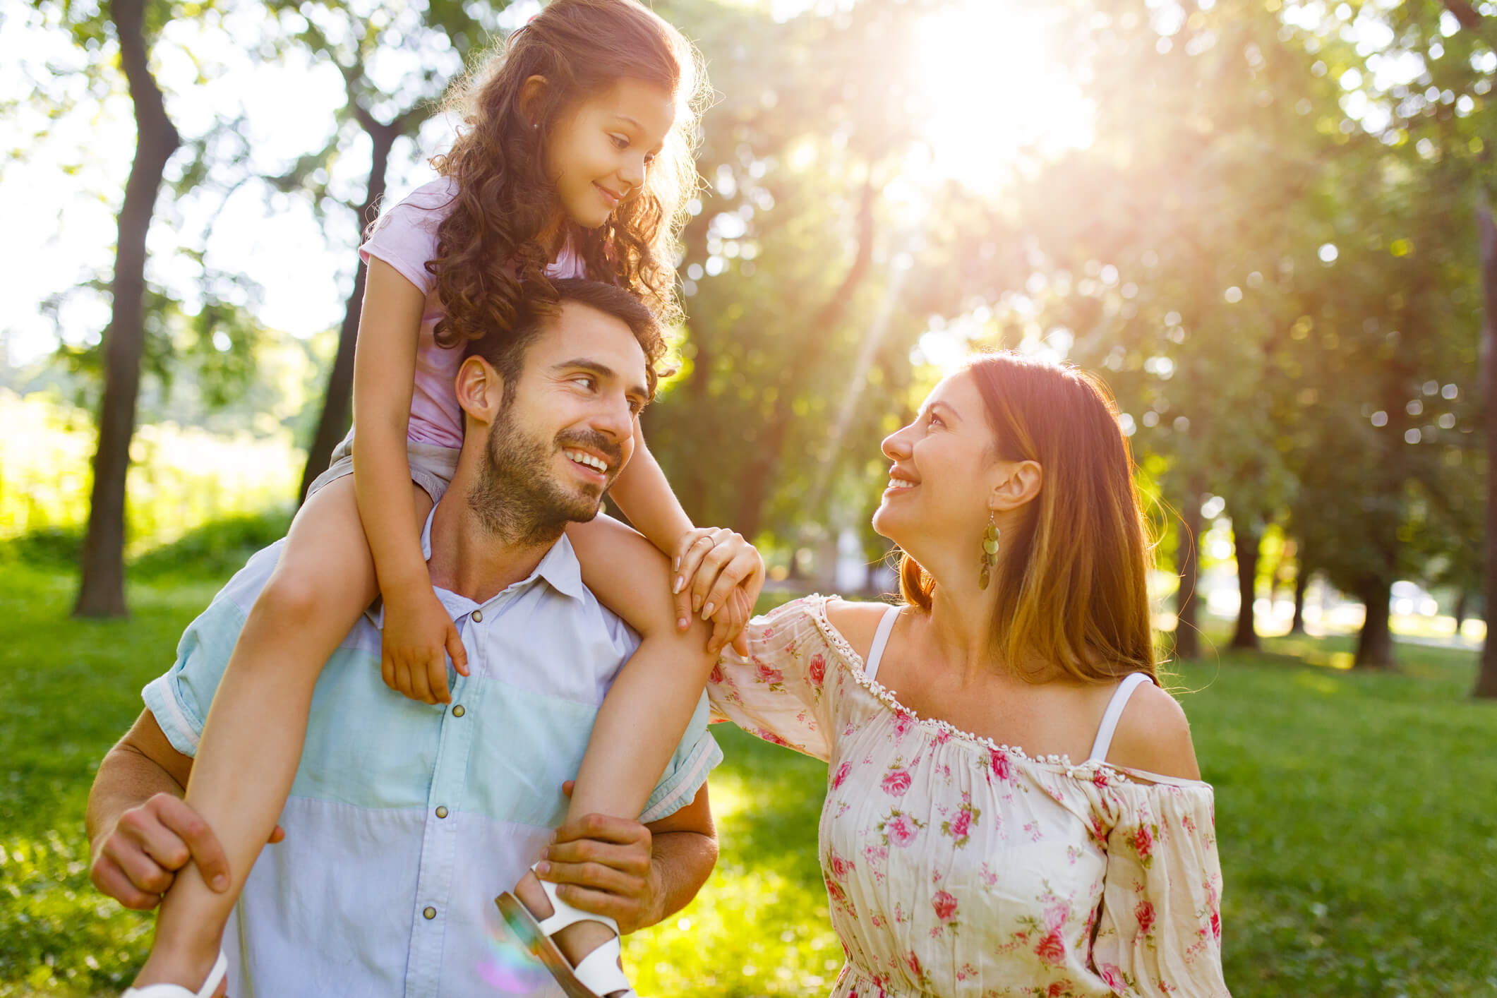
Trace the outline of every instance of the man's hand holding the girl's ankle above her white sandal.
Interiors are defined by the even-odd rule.
[[[557,829],[555,841],[542,850],[540,860],[536,875],[558,884],[557,895],[563,901],[615,919],[624,935],[662,917],[651,835],[639,821],[605,814],[567,821]]]

